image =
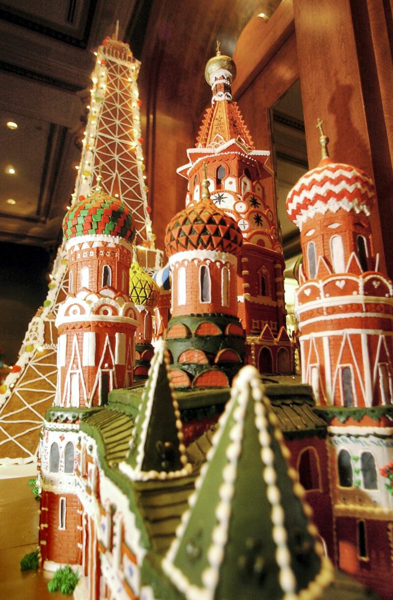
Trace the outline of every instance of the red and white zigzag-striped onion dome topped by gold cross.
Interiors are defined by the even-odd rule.
[[[366,173],[330,160],[329,139],[322,131],[322,121],[318,121],[317,127],[321,130],[322,160],[299,179],[286,199],[288,216],[300,229],[307,218],[337,212],[340,208],[369,215],[375,199],[374,184]]]

